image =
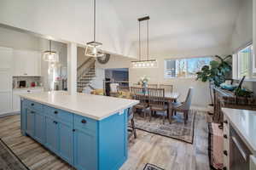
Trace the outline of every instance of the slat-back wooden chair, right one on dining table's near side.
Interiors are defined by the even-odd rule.
[[[166,116],[168,117],[168,106],[165,100],[165,89],[164,88],[148,88],[148,105],[150,108],[149,122],[153,113],[157,111],[163,112],[163,124],[165,124]],[[166,112],[166,115],[165,115]]]

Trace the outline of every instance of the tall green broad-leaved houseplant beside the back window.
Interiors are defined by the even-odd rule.
[[[210,65],[204,65],[201,71],[196,72],[196,80],[201,82],[209,82],[210,95],[212,99],[212,84],[219,87],[221,83],[225,82],[226,78],[230,75],[232,70],[231,62],[232,55],[224,58],[215,55],[216,59],[210,62]],[[213,105],[213,99],[212,99]]]

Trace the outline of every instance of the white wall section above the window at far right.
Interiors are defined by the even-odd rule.
[[[253,1],[241,1],[241,8],[232,34],[231,48],[233,51],[253,41]]]

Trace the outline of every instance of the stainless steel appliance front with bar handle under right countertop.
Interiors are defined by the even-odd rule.
[[[230,126],[230,170],[249,170],[251,151]]]

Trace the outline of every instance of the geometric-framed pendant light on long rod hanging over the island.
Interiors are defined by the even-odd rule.
[[[102,42],[96,42],[96,0],[94,0],[94,17],[93,17],[93,41],[86,43],[85,55],[90,57],[102,57],[104,54],[99,48],[102,46]]]

